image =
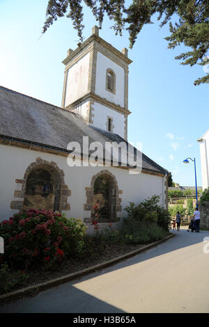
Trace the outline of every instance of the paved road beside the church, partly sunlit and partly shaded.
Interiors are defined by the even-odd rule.
[[[0,312],[209,312],[209,253],[203,251],[209,232],[173,233],[146,253],[0,306]]]

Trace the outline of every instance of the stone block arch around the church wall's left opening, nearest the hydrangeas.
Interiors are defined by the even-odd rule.
[[[68,185],[65,184],[65,174],[63,170],[61,170],[54,161],[49,162],[40,157],[36,158],[36,161],[31,163],[29,167],[26,168],[22,180],[15,180],[15,182],[19,184],[19,188],[15,191],[14,197],[21,198],[21,200],[12,201],[10,204],[10,208],[17,210],[24,209],[24,200],[26,196],[26,186],[28,177],[31,175],[31,173],[38,169],[46,170],[52,176],[54,186],[54,210],[57,210],[59,212],[62,212],[63,210],[70,210],[68,196],[71,195],[71,190],[68,189]]]

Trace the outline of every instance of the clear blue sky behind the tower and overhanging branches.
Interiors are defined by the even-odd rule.
[[[64,65],[69,48],[77,47],[72,21],[62,17],[41,36],[47,0],[0,0],[0,85],[61,106]],[[143,152],[171,171],[180,185],[194,186],[194,165],[183,159],[196,158],[197,184],[201,186],[199,143],[209,128],[209,86],[194,86],[203,67],[180,65],[174,57],[184,47],[167,49],[168,26],[145,26],[128,56],[128,139],[142,143]],[[84,37],[96,24],[84,7]],[[116,36],[104,19],[100,36],[121,50],[129,47],[128,33]],[[41,36],[41,37],[40,37]]]

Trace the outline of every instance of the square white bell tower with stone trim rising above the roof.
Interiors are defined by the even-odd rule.
[[[118,51],[99,36],[91,36],[64,59],[62,107],[75,112],[88,125],[110,131],[127,140],[127,49]]]

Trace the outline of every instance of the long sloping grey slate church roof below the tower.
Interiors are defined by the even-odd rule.
[[[68,143],[77,141],[82,145],[83,136],[88,136],[89,143],[128,144],[118,134],[86,125],[75,113],[0,86],[1,138],[15,138],[67,152]],[[134,157],[137,151],[134,148]],[[145,154],[142,154],[142,167],[153,173],[168,173]]]

